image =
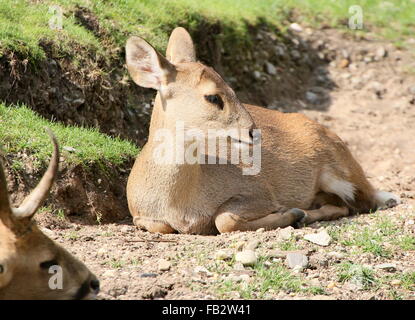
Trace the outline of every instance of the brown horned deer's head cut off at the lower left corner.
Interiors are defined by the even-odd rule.
[[[58,171],[58,144],[50,135],[54,152],[49,167],[19,208],[10,207],[0,163],[0,300],[88,299],[99,291],[99,281],[88,268],[44,235],[32,219]]]

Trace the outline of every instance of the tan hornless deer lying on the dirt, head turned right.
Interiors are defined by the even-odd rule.
[[[270,230],[400,202],[373,188],[346,144],[330,130],[301,114],[242,104],[212,68],[196,60],[185,29],[171,34],[166,58],[142,38],[131,37],[126,60],[136,84],[158,90],[148,142],[127,185],[136,226],[192,234]],[[242,165],[229,161],[159,163],[160,132],[175,136],[178,123],[206,135],[213,129],[249,132],[244,139],[230,135],[240,150],[255,148],[253,131],[260,129],[261,170],[244,175]],[[170,150],[175,155],[178,140]],[[184,149],[191,143],[185,140]]]

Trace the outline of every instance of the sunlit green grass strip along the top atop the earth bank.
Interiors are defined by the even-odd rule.
[[[52,5],[62,9],[62,30],[49,27],[54,17],[49,10]],[[218,22],[223,27],[218,37],[235,46],[235,41],[247,43],[248,25],[266,23],[284,29],[293,8],[301,14],[298,21],[346,28],[352,5],[362,7],[366,29],[374,27],[382,36],[397,42],[411,36],[415,21],[415,6],[411,0],[3,0],[0,2],[0,56],[11,50],[32,62],[42,59],[45,52],[39,40],[47,39],[53,41],[63,55],[76,55],[73,43],[77,43],[107,57],[111,51],[108,49],[123,47],[130,34],[141,35],[164,51],[174,27],[180,25],[194,31]],[[77,6],[94,13],[106,30],[105,37],[94,35],[79,24],[75,17]]]

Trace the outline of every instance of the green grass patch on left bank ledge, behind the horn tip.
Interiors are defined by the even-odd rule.
[[[0,103],[0,137],[6,153],[26,152],[41,166],[52,154],[52,144],[44,128],[56,135],[61,154],[68,164],[120,165],[136,156],[138,149],[130,142],[106,136],[97,129],[64,126],[50,122],[24,106],[5,106]],[[68,152],[64,147],[72,147]],[[13,165],[21,169],[19,161]]]

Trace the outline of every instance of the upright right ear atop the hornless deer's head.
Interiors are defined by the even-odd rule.
[[[195,46],[186,29],[178,27],[173,30],[167,45],[166,58],[173,64],[196,62]]]

